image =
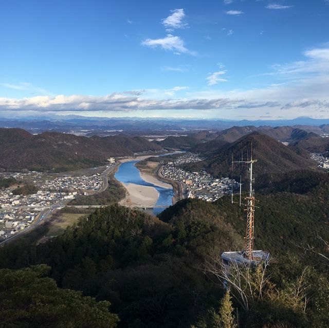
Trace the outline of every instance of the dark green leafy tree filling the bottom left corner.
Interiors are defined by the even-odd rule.
[[[46,277],[49,270],[44,264],[0,270],[0,326],[116,327],[119,319],[108,312],[109,302],[58,288]]]

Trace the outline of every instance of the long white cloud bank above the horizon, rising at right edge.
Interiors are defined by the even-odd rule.
[[[304,60],[273,66],[270,75],[279,80],[276,84],[253,89],[221,89],[191,91],[187,86],[170,89],[132,90],[106,96],[38,96],[30,98],[0,98],[0,112],[17,113],[122,113],[137,111],[207,111],[212,117],[228,118],[247,115],[264,116],[269,108],[285,118],[298,116],[329,117],[329,46],[304,51]],[[209,74],[208,84],[224,82],[226,70],[217,63],[218,71]],[[178,66],[180,67],[180,66]],[[11,85],[22,88],[20,84]],[[181,97],[184,95],[184,98]],[[179,95],[181,98],[174,98]],[[224,114],[222,110],[229,110]],[[172,112],[170,112],[172,111]],[[107,114],[106,114],[107,112]],[[197,114],[206,116],[208,114]],[[11,115],[11,114],[7,114]],[[118,114],[119,115],[119,114]],[[145,114],[147,115],[147,114]]]

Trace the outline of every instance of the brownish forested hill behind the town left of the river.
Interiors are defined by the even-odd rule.
[[[141,137],[83,137],[58,132],[32,135],[22,129],[0,129],[0,168],[56,170],[104,165],[111,156],[159,151],[161,147]]]

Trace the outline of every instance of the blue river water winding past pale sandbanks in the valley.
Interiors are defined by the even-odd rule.
[[[153,185],[147,181],[144,181],[140,176],[140,171],[135,167],[135,164],[139,162],[139,160],[133,160],[130,162],[122,163],[118,171],[115,173],[115,178],[118,181],[121,181],[123,184],[136,184],[141,186],[153,187],[159,193],[159,198],[156,202],[156,205],[172,205],[173,204],[173,196],[174,192],[172,188],[161,188],[156,185]],[[157,215],[162,212],[164,208],[154,208],[153,214]]]

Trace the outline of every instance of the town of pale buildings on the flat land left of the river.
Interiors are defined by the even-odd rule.
[[[114,162],[106,166],[111,168]],[[106,171],[105,170],[105,171]],[[16,181],[33,183],[36,192],[32,194],[14,194],[13,188],[0,190],[0,240],[7,239],[33,223],[45,218],[45,208],[61,207],[77,195],[90,195],[101,190],[103,172],[83,175],[59,176],[40,172],[0,173],[0,178],[14,178]],[[22,185],[22,184],[21,184]]]

